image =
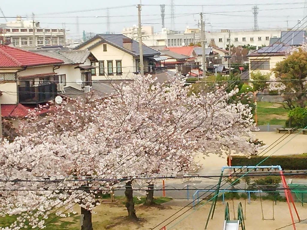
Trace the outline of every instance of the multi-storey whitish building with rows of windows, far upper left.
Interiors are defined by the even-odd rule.
[[[0,24],[0,36],[5,38],[5,43],[12,43],[14,47],[32,47],[33,36],[35,46],[65,45],[64,29],[44,29],[38,21],[34,21],[33,27],[33,21],[24,21],[20,16],[16,21]]]

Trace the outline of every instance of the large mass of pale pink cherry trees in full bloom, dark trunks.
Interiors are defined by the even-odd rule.
[[[81,229],[92,230],[97,190],[119,182],[126,183],[128,217],[137,219],[133,186],[140,180],[135,178],[193,172],[196,152],[258,150],[248,141],[251,108],[230,102],[238,89],[221,85],[188,94],[191,89],[184,86],[183,79],[157,83],[150,75],[135,76],[129,84],[114,85],[110,98],[89,95],[50,108],[46,117],[30,114],[20,136],[0,148],[0,177],[14,180],[0,182],[0,214],[21,215],[7,229],[44,226],[52,210],[79,204]],[[34,182],[37,177],[41,182]]]

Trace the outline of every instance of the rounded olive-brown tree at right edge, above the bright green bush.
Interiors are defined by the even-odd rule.
[[[269,90],[283,94],[289,109],[305,107],[307,100],[307,51],[298,48],[285,60],[276,64],[275,76],[270,78]]]

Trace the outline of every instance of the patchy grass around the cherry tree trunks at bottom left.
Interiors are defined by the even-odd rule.
[[[146,218],[149,219],[148,210],[149,207],[144,206],[143,203],[145,202],[145,197],[133,197],[135,202],[135,209],[137,210],[139,218]],[[109,199],[104,199],[107,201]],[[110,203],[102,203],[98,205],[93,210],[93,227],[94,229],[123,229],[128,230],[128,228],[124,228],[121,224],[125,224],[127,220],[125,217],[127,216],[127,211],[125,207],[125,197],[115,197],[115,202]],[[170,197],[155,197],[154,202],[159,205],[165,202],[171,201],[172,198]],[[158,206],[159,207],[159,206]],[[56,215],[52,214],[45,221],[46,228],[45,230],[80,230],[80,207],[78,205],[74,206],[74,211],[77,212],[76,215],[72,215],[70,217],[57,217]],[[7,217],[0,217],[0,227],[7,227],[10,224],[14,223],[17,216],[7,216]],[[114,226],[115,221],[119,222],[119,226]],[[116,224],[117,225],[117,224]],[[118,228],[117,228],[118,227]],[[38,230],[39,228],[22,228],[25,230]]]

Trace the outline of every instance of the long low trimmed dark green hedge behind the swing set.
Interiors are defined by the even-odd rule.
[[[232,156],[231,166],[254,166],[265,159],[266,156]],[[229,159],[227,157],[227,165]],[[307,170],[307,154],[287,155],[287,156],[270,156],[260,166],[280,165],[283,170]]]

